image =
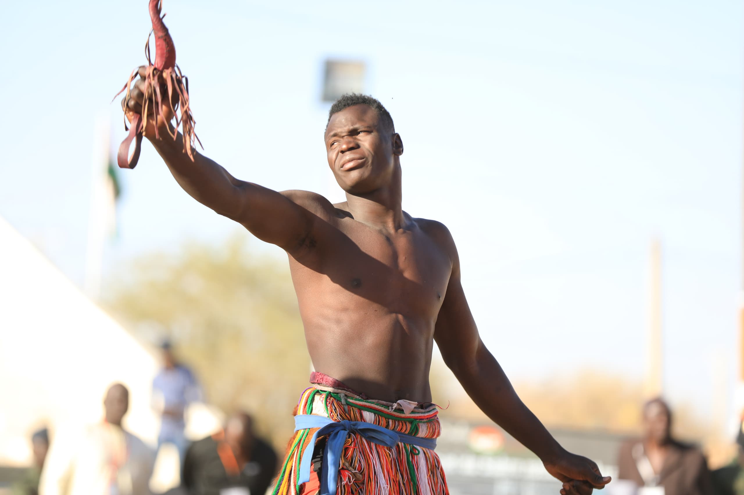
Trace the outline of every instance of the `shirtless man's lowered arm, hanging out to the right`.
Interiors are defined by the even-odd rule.
[[[465,299],[454,243],[451,247],[452,275],[434,329],[444,362],[475,404],[532,450],[551,475],[564,482],[562,494],[591,493],[591,486],[602,488],[609,478],[602,477],[594,462],[568,453],[558,444],[525,406],[504,370],[484,346]],[[572,480],[584,480],[589,484]]]

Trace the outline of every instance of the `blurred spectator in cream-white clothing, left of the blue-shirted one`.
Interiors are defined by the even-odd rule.
[[[82,436],[57,434],[44,463],[40,495],[147,495],[153,451],[121,427],[129,390],[114,384],[103,400],[103,421]]]

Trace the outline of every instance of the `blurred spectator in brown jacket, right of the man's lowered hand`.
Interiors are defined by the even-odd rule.
[[[644,437],[620,447],[618,478],[629,479],[639,494],[710,495],[711,474],[697,448],[671,436],[672,413],[660,398],[644,405]]]

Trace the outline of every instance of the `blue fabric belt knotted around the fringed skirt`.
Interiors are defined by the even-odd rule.
[[[305,447],[304,453],[302,453],[298,485],[310,481],[310,465],[312,464],[312,450],[315,448],[315,441],[318,436],[327,435],[328,440],[323,452],[320,495],[336,495],[341,454],[349,433],[358,433],[372,443],[385,445],[386,447],[395,447],[399,442],[425,449],[437,447],[436,439],[422,439],[417,436],[398,433],[365,421],[333,421],[324,416],[312,414],[296,415],[295,431],[307,430],[308,428],[320,428],[320,430],[315,432],[310,439],[310,443]]]

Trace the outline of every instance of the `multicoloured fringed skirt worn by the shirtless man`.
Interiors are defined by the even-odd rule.
[[[321,387],[322,388],[322,387]],[[407,408],[409,409],[409,408]],[[404,412],[398,404],[371,401],[344,393],[312,387],[305,390],[297,414],[321,415],[332,421],[365,421],[423,439],[440,435],[437,407],[415,407]],[[310,482],[299,484],[300,462],[318,428],[298,430],[289,441],[286,459],[272,495],[318,493],[318,466],[324,438],[319,437]],[[433,450],[397,443],[394,447],[373,443],[358,433],[349,433],[339,466],[337,495],[446,495],[444,471]]]

